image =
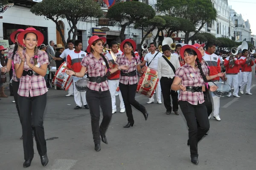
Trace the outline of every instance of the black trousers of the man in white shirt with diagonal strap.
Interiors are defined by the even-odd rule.
[[[163,104],[166,108],[166,111],[178,111],[178,93],[177,91],[171,90],[173,79],[162,77],[160,79],[160,85],[163,94]],[[171,105],[171,97],[172,96],[172,105]],[[173,107],[173,108],[172,108]]]

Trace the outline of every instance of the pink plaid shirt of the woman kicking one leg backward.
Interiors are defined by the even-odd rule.
[[[128,73],[134,70],[137,70],[137,65],[140,64],[140,57],[137,55],[135,55],[136,57],[133,57],[131,59],[131,62],[129,61],[129,59],[127,57],[125,57],[124,54],[122,54],[120,57],[117,57],[116,59],[116,64],[117,65],[127,65],[129,68],[128,70],[122,70],[123,73]],[[132,77],[128,77],[128,76],[122,76],[120,75],[120,79],[119,82],[125,85],[134,85],[138,82],[138,76],[136,74],[136,76],[132,76]]]

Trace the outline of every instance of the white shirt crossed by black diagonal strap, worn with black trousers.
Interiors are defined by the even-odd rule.
[[[168,59],[168,58],[167,58]],[[180,62],[179,59],[171,54],[171,58],[169,61],[172,63],[172,65],[175,68],[175,71],[180,68]],[[171,66],[168,64],[168,62],[163,58],[160,57],[158,59],[158,64],[157,64],[157,73],[158,73],[158,78],[159,80],[162,77],[168,77],[168,78],[173,78],[175,76]]]

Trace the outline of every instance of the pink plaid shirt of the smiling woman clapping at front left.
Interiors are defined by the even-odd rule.
[[[26,52],[26,50],[23,50],[23,54]],[[31,58],[31,63],[34,64],[34,60],[33,57]],[[14,64],[20,64],[21,59],[18,55],[15,55],[14,57]],[[38,59],[37,59],[38,65],[44,65],[44,64],[49,64],[49,59],[48,59],[48,55],[47,53],[45,53],[44,51],[38,51]],[[28,71],[30,70],[29,66],[26,65],[26,61],[24,63],[24,70]],[[18,90],[18,94],[20,96],[25,96],[25,97],[29,97],[29,95],[31,97],[34,96],[40,96],[43,95],[47,92],[47,86],[44,80],[44,77],[42,77],[41,75],[26,75],[26,76],[21,76],[20,78],[20,87]]]

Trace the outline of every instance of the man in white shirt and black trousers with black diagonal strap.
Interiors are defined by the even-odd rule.
[[[172,91],[171,86],[175,76],[175,71],[180,67],[180,62],[177,57],[174,57],[171,54],[171,48],[169,45],[163,45],[162,51],[163,56],[158,59],[157,72],[163,94],[163,103],[166,108],[166,114],[171,114],[173,110],[176,115],[179,115],[178,93],[177,91]],[[172,106],[170,95],[172,96]]]

